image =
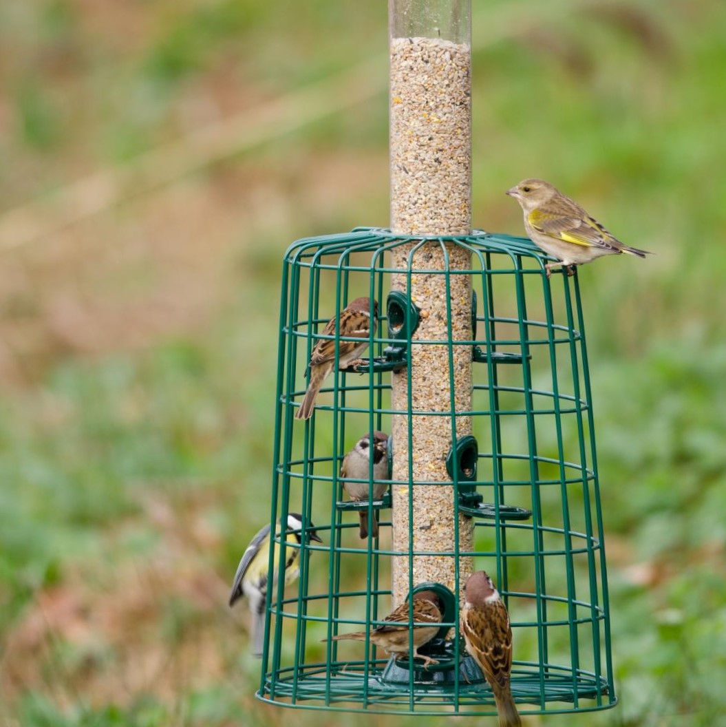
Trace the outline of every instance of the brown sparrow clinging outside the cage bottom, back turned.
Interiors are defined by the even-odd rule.
[[[461,609],[461,632],[471,654],[491,686],[499,727],[522,724],[509,688],[512,671],[512,627],[507,606],[484,571],[469,576],[464,587],[466,603]]]

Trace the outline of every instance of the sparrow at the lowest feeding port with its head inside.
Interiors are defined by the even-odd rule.
[[[443,619],[442,612],[443,604],[434,591],[422,590],[414,593],[414,659],[423,659],[424,668],[429,664],[438,664],[436,659],[419,654],[418,650],[437,634]],[[408,601],[401,603],[398,608],[395,608],[383,619],[387,624],[376,626],[371,630],[371,642],[388,654],[408,654],[411,647],[408,627],[411,623],[410,616]],[[433,625],[426,626],[425,624]],[[365,641],[367,637],[367,632],[357,631],[352,634],[339,634],[334,636],[332,640],[352,639]],[[326,640],[323,639],[323,641]]]

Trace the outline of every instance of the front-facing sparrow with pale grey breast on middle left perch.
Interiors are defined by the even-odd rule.
[[[388,435],[384,432],[373,433],[373,447],[371,447],[371,437],[365,435],[361,437],[343,459],[340,468],[340,476],[342,478],[352,478],[355,480],[363,480],[363,482],[344,482],[343,487],[353,502],[361,500],[380,499],[384,492],[388,489],[388,483],[382,480],[388,479]],[[371,451],[373,457],[373,491],[369,490],[368,477],[371,473]],[[360,517],[360,537],[365,539],[368,537],[368,510],[358,510]],[[378,537],[378,518],[376,511],[371,515],[371,537]]]

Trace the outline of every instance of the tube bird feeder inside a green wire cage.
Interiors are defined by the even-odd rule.
[[[283,260],[270,521],[302,513],[323,544],[287,546],[300,551],[288,587],[285,549],[273,563],[270,548],[265,702],[496,714],[458,628],[483,569],[509,609],[520,713],[616,703],[578,277],[549,279],[528,239],[471,228],[469,28],[469,0],[390,0],[390,229],[304,238]],[[379,302],[367,358],[296,419],[312,348],[361,296]],[[389,489],[351,502],[342,460],[376,430],[390,433]],[[360,508],[378,537],[360,539]],[[419,648],[436,664],[332,640],[422,587],[443,603]]]

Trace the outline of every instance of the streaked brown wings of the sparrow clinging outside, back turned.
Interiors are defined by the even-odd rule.
[[[482,667],[487,681],[504,687],[512,670],[512,628],[506,611],[491,608],[504,609],[504,603],[464,608],[461,627],[467,636],[467,650]]]

